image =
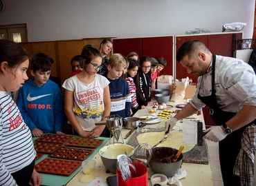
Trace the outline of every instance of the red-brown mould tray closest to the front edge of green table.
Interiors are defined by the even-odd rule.
[[[37,172],[44,172],[48,174],[60,174],[64,176],[71,175],[75,169],[80,167],[80,161],[66,161],[53,158],[45,158],[35,165]]]

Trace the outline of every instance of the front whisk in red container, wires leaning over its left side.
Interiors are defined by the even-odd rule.
[[[122,179],[125,181],[132,177],[130,167],[134,170],[134,172],[136,172],[136,168],[131,164],[130,158],[128,158],[125,154],[118,155],[118,169],[120,170]]]

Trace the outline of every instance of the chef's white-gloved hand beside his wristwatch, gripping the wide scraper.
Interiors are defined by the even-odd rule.
[[[224,131],[221,129],[221,126],[210,127],[208,128],[208,130],[205,130],[205,132],[207,132],[207,134],[205,134],[204,138],[214,142],[221,141],[223,140],[223,138],[226,138],[226,136],[228,136],[228,134],[225,134]]]

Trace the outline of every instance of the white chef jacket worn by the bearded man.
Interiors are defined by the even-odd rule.
[[[243,105],[256,106],[256,76],[248,63],[239,59],[216,55],[214,81],[217,103],[221,110],[237,113]],[[201,87],[200,92],[199,87]],[[197,98],[197,94],[210,96],[211,91],[212,70],[199,76],[196,92],[192,96],[190,104],[196,110],[200,110],[205,104]]]

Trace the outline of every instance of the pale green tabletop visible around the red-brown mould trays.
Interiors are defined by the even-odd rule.
[[[79,137],[79,136],[74,136],[74,137]],[[33,137],[33,141],[35,141],[35,137]],[[95,156],[99,150],[104,147],[104,145],[106,145],[106,143],[109,141],[109,138],[104,138],[104,137],[98,137],[96,139],[103,139],[104,141],[102,142],[102,144],[100,144],[99,147],[93,149],[94,152],[88,157],[86,158],[86,161],[91,160],[91,158],[93,158],[93,156]],[[92,149],[92,148],[88,148],[88,149]],[[40,157],[37,161],[35,161],[35,165],[37,163],[39,163],[40,161],[43,161],[45,158],[48,158],[48,154],[44,154],[44,156]],[[69,160],[67,160],[69,161]],[[43,176],[43,181],[42,181],[42,185],[53,185],[53,186],[62,186],[62,185],[66,185],[66,183],[68,183],[69,180],[71,180],[73,178],[73,176],[75,176],[75,174],[77,174],[77,172],[80,172],[80,170],[82,169],[82,166],[78,167],[75,172],[73,172],[70,176],[62,176],[62,175],[57,175],[57,174],[46,174],[46,173],[42,173],[39,172],[39,174],[41,176]]]

